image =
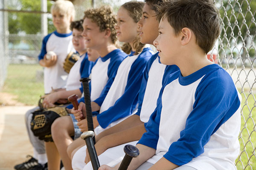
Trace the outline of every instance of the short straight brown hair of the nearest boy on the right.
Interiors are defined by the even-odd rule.
[[[182,28],[193,31],[196,43],[207,54],[220,34],[218,9],[212,0],[171,0],[157,6],[157,20],[166,18],[178,35]]]

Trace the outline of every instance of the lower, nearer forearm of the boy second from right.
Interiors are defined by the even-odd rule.
[[[144,124],[140,124],[135,127],[131,127],[130,129],[104,136],[102,139],[100,139],[100,141],[104,142],[105,150],[107,150],[110,147],[115,147],[120,144],[125,144],[132,141],[137,141],[145,132],[146,130]]]

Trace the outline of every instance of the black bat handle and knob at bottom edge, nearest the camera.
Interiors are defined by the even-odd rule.
[[[125,145],[124,151],[125,151],[125,157],[122,160],[118,170],[127,170],[129,164],[131,163],[131,159],[136,158],[137,156],[140,155],[140,151],[138,150],[138,148],[131,144]]]

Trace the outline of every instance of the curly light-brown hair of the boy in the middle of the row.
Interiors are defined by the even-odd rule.
[[[113,14],[113,10],[110,6],[102,6],[100,8],[90,8],[87,11],[84,11],[84,19],[88,18],[93,23],[96,23],[99,26],[99,31],[105,31],[110,29],[111,31],[111,40],[113,44],[116,43],[116,29],[115,25],[116,15]]]

